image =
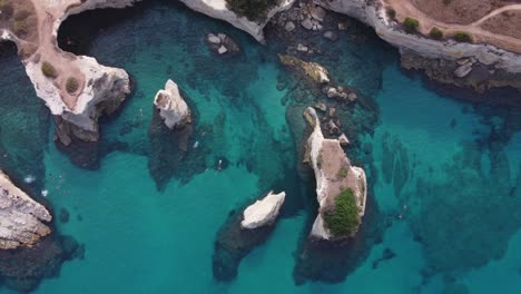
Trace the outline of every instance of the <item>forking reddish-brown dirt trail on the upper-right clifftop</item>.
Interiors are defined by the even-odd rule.
[[[489,14],[481,18],[480,20],[470,24],[454,24],[432,19],[423,11],[416,9],[416,7],[414,7],[414,4],[410,0],[387,0],[386,2],[396,11],[396,19],[399,21],[403,21],[407,17],[417,19],[420,21],[419,30],[423,35],[429,35],[433,27],[442,29],[445,36],[452,35],[456,31],[466,31],[472,35],[475,42],[491,43],[499,48],[521,53],[520,39],[490,32],[479,27],[486,19],[494,17],[501,12],[510,10],[521,10],[521,4],[511,4],[499,8],[497,10],[491,11]]]

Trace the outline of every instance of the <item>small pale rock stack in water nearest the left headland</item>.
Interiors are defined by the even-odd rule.
[[[191,122],[190,109],[183,99],[177,84],[170,79],[166,82],[165,89],[157,92],[154,105],[169,129],[183,128]]]

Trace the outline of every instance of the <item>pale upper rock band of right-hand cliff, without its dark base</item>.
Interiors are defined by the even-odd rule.
[[[517,74],[521,72],[521,56],[491,45],[438,41],[395,29],[387,20],[383,6],[379,8],[367,0],[314,0],[315,3],[338,13],[356,18],[373,27],[380,38],[397,47],[401,51],[411,50],[425,58],[459,60],[475,57],[483,65]]]

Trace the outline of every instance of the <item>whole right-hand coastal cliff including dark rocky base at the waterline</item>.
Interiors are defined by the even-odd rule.
[[[385,8],[380,1],[314,0],[314,2],[373,27],[380,38],[400,49],[402,65],[405,68],[425,70],[427,76],[439,81],[471,86],[476,90],[504,86],[521,89],[521,56],[518,53],[491,45],[439,41],[406,33],[387,18]],[[413,58],[409,58],[410,56]],[[464,67],[458,65],[470,58],[475,58],[475,63]],[[480,75],[469,75],[473,68],[481,69]]]

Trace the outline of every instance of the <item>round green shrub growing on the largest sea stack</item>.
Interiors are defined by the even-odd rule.
[[[345,189],[336,196],[334,212],[325,213],[324,222],[335,236],[347,236],[356,232],[360,216],[352,189]]]

